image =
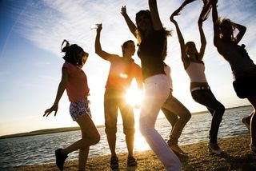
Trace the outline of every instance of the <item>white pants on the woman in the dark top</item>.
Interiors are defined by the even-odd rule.
[[[158,113],[170,93],[166,75],[158,74],[146,78],[144,89],[145,94],[141,106],[139,129],[150,148],[166,167],[166,170],[182,170],[182,164],[178,157],[166,144],[166,141],[162,139],[157,130],[154,129]]]

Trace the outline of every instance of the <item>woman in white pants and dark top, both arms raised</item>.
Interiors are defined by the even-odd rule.
[[[166,170],[181,170],[182,164],[154,128],[158,113],[170,94],[163,59],[166,55],[166,37],[168,33],[162,27],[158,15],[156,0],[149,0],[150,10],[141,10],[136,14],[136,25],[122,7],[122,15],[132,34],[138,40],[138,57],[142,63],[144,97],[142,100],[139,129],[150,148],[166,167]]]

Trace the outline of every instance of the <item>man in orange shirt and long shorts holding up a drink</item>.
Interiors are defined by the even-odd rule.
[[[123,132],[126,135],[128,149],[127,165],[136,166],[137,161],[133,157],[135,132],[134,110],[130,104],[126,103],[125,95],[126,91],[130,88],[133,78],[136,78],[138,88],[142,89],[142,70],[140,66],[134,63],[134,59],[132,59],[135,52],[133,41],[130,40],[123,43],[122,57],[117,54],[109,54],[102,50],[100,43],[101,31],[102,24],[98,25],[97,29],[95,53],[111,63],[104,94],[106,137],[111,152],[110,167],[111,169],[118,169],[118,157],[115,153],[118,109],[122,114]]]

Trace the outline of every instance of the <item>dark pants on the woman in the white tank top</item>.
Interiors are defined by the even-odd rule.
[[[201,105],[205,105],[211,113],[213,119],[211,121],[209,138],[210,142],[217,143],[218,128],[222,122],[222,116],[225,112],[225,107],[220,103],[211,92],[210,89],[198,89],[191,92],[194,101]]]

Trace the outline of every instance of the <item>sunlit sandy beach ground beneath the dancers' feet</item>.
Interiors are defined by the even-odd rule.
[[[202,141],[192,145],[183,145],[181,148],[188,153],[187,156],[179,156],[182,161],[182,170],[236,170],[253,171],[256,170],[256,153],[250,151],[250,136],[228,137],[218,141],[222,149],[230,153],[228,156],[218,156],[208,152],[207,141]],[[134,152],[134,157],[138,161],[137,167],[127,167],[127,153],[118,154],[119,170],[144,171],[144,170],[165,170],[158,157],[151,150]],[[78,170],[78,161],[66,161],[64,170]],[[54,163],[44,165],[27,165],[12,169],[15,171],[54,171],[58,170]],[[111,170],[110,155],[89,158],[86,170]]]

